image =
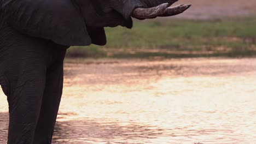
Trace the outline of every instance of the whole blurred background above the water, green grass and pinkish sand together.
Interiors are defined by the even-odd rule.
[[[106,28],[107,45],[72,47],[69,57],[157,58],[255,56],[256,1],[192,3],[171,18],[135,20],[132,29]],[[177,4],[179,4],[177,3]]]

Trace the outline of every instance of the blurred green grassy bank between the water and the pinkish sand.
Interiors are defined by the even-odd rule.
[[[114,58],[254,56],[255,23],[255,17],[219,21],[135,21],[132,29],[106,28],[106,46],[72,47],[67,55]]]

